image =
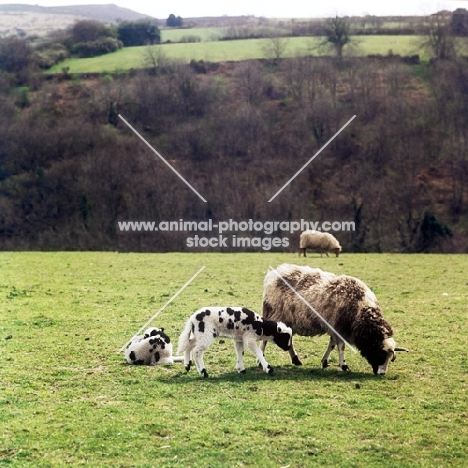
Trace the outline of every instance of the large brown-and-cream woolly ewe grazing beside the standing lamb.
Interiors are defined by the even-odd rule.
[[[349,370],[344,358],[344,340],[357,347],[374,374],[387,372],[396,351],[408,351],[396,347],[392,327],[383,318],[374,293],[362,281],[319,268],[283,264],[276,271],[269,271],[264,281],[263,317],[282,320],[300,336],[328,333],[330,342],[322,357],[322,368],[328,366],[328,358],[336,345],[339,366],[343,371]],[[265,347],[266,342],[263,342],[262,351]],[[302,364],[293,344],[289,354],[293,364]]]

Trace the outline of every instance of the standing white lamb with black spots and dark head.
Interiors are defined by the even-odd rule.
[[[284,351],[292,343],[292,331],[284,323],[266,320],[245,307],[204,307],[197,310],[187,321],[180,335],[177,354],[184,353],[184,364],[190,370],[193,355],[200,375],[208,377],[203,353],[218,336],[234,340],[237,353],[236,370],[245,373],[243,362],[244,346],[257,357],[257,361],[267,374],[273,374],[273,368],[266,362],[257,341],[273,341]]]

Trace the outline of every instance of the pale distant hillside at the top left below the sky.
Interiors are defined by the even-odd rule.
[[[117,5],[76,5],[41,7],[38,5],[0,5],[0,37],[45,35],[66,29],[77,20],[94,19],[104,23],[136,21],[146,15]]]

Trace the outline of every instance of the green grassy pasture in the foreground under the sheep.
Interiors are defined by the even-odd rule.
[[[174,347],[199,307],[259,311],[268,266],[284,262],[363,279],[411,353],[384,377],[350,350],[352,372],[336,353],[322,371],[327,338],[298,337],[304,366],[269,345],[270,377],[248,353],[237,374],[232,343],[218,341],[205,380],[117,355],[201,266],[155,321]],[[466,255],[1,253],[0,465],[464,467],[466,265]]]

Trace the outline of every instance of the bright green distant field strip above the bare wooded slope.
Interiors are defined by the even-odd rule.
[[[180,31],[180,30],[178,30]],[[193,31],[193,30],[187,30]],[[176,31],[172,31],[175,33]],[[164,38],[164,34],[163,34]],[[287,39],[285,57],[320,55],[325,51],[318,51],[319,38],[293,37]],[[422,41],[417,36],[366,36],[356,39],[357,46],[352,50],[353,55],[387,54],[392,50],[394,54],[412,55],[419,53]],[[265,39],[245,39],[236,41],[212,41],[184,44],[161,44],[160,47],[167,58],[179,59],[184,62],[190,60],[205,60],[210,62],[240,61],[265,58],[262,45]],[[69,73],[101,73],[125,71],[144,67],[147,47],[127,47],[104,55],[88,59],[69,59],[50,70],[49,73],[60,73],[69,67]]]

